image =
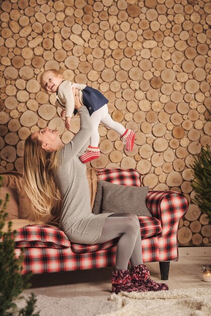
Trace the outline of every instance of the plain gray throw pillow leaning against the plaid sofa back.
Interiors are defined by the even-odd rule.
[[[151,217],[146,207],[148,189],[149,187],[125,186],[99,180],[92,213],[134,213],[137,216]]]

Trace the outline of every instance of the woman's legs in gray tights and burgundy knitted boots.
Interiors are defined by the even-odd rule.
[[[113,272],[112,291],[161,291],[168,290],[165,283],[149,278],[149,271],[142,261],[140,224],[138,217],[131,213],[112,214],[105,219],[102,234],[97,241],[105,242],[120,237],[116,253],[116,271]],[[127,270],[131,262],[131,275]]]

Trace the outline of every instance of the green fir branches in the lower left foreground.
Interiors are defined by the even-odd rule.
[[[0,190],[3,178],[0,176]],[[39,316],[39,313],[33,313],[36,299],[34,294],[26,299],[26,306],[18,310],[16,301],[23,298],[21,293],[30,287],[28,282],[31,274],[21,275],[23,250],[21,255],[16,257],[14,237],[16,231],[12,231],[12,222],[8,224],[7,232],[3,232],[9,194],[6,194],[5,200],[0,199],[0,315],[1,316]]]

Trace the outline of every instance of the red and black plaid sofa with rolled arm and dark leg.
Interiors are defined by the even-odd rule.
[[[115,184],[141,186],[133,169],[98,169],[99,178]],[[160,262],[161,277],[168,279],[169,262],[178,260],[177,232],[187,212],[186,197],[174,191],[149,191],[146,205],[152,217],[139,217],[143,261]],[[55,273],[115,266],[118,238],[96,245],[71,243],[59,228],[29,225],[17,230],[15,252],[23,248],[22,274]]]

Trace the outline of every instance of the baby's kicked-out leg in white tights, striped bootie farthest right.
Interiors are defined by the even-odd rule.
[[[125,129],[122,124],[115,122],[108,113],[108,106],[107,106],[107,115],[103,119],[101,119],[101,123],[104,126],[113,129],[118,134],[120,134],[121,139],[126,145],[126,150],[131,151],[133,149],[134,140],[135,140],[135,133],[131,129]]]

